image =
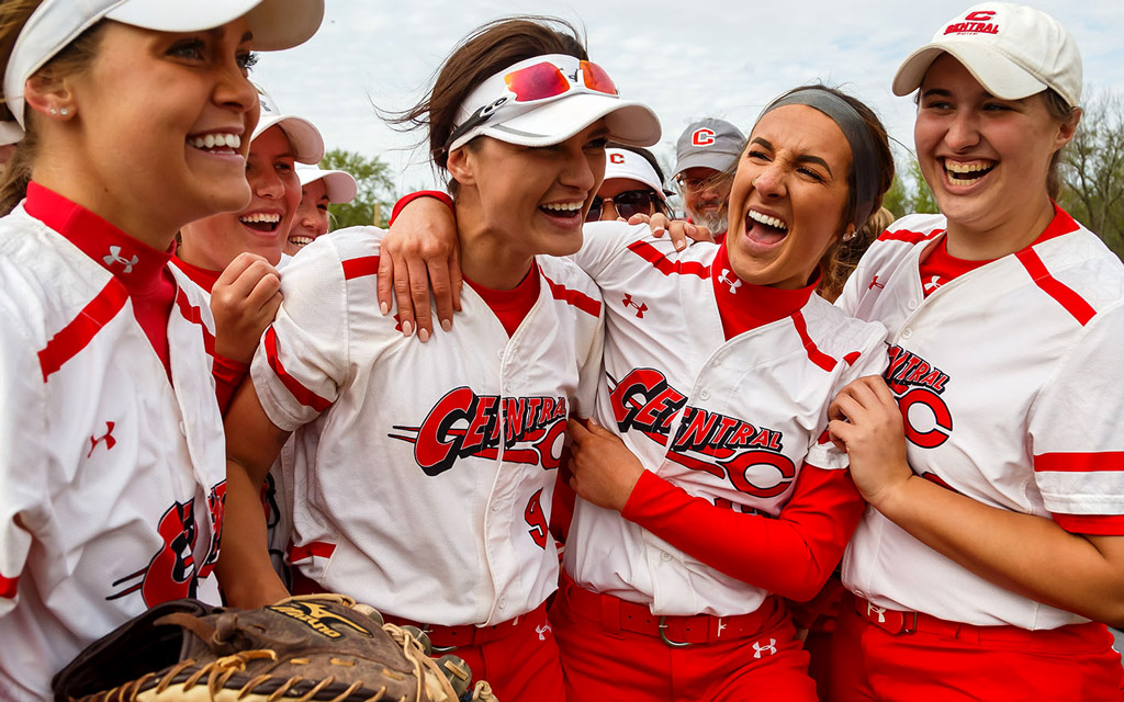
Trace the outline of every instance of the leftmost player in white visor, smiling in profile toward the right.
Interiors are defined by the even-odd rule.
[[[248,197],[251,49],[297,45],[323,15],[290,4],[0,8],[0,112],[27,135],[0,184],[4,700],[48,699],[56,671],[149,605],[218,601],[214,329],[167,250]]]

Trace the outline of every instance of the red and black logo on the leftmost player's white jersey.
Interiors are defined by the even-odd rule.
[[[207,495],[207,508],[210,517],[211,539],[207,556],[196,567],[194,548],[198,532],[196,530],[194,500],[190,502],[173,502],[172,507],[160,518],[156,534],[164,541],[163,546],[152,557],[148,565],[114,582],[114,586],[127,585],[107,600],[117,600],[139,591],[145,607],[154,607],[161,602],[194,598],[199,581],[208,577],[218,562],[219,541],[223,534],[223,517],[226,511],[226,482],[211,489]],[[139,578],[139,581],[138,581]],[[132,582],[132,584],[129,584]]]

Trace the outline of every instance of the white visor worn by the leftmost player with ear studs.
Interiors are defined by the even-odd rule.
[[[3,75],[4,101],[26,127],[27,79],[102,19],[156,31],[199,31],[242,16],[255,49],[289,48],[319,28],[324,0],[43,0],[16,38]]]

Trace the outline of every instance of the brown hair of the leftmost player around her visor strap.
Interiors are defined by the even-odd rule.
[[[3,0],[0,3],[0,75],[3,75],[8,70],[8,61],[11,58],[12,48],[16,46],[16,39],[19,38],[24,25],[40,4],[43,4],[43,0]],[[36,75],[49,75],[58,79],[88,69],[97,54],[101,29],[105,26],[105,22],[98,22],[83,31],[66,48],[58,52],[42,69],[36,71]],[[0,94],[0,98],[2,97]],[[15,116],[8,109],[8,104],[0,99],[0,121],[12,120],[15,120]],[[20,200],[27,197],[27,184],[31,180],[31,166],[35,163],[38,138],[30,111],[27,112],[24,121],[26,134],[16,145],[15,153],[0,174],[0,216],[10,212],[19,204]]]

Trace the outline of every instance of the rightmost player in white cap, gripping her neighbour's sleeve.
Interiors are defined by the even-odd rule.
[[[1124,267],[1052,201],[1080,55],[1048,15],[988,2],[894,90],[919,90],[942,215],[892,225],[840,299],[886,325],[889,365],[833,405],[873,508],[833,699],[1120,700],[1095,622],[1124,621]]]

